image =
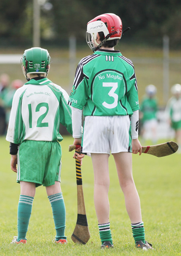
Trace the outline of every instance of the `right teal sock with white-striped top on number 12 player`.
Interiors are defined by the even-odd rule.
[[[66,209],[64,204],[64,199],[62,193],[51,195],[48,197],[52,212],[53,220],[56,229],[56,241],[59,239],[66,239],[65,237],[65,227],[66,227]]]

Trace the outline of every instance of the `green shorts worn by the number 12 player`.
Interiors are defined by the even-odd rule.
[[[18,150],[17,182],[37,186],[60,182],[62,149],[59,142],[25,140]]]

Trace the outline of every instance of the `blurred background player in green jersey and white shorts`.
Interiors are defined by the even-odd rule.
[[[146,139],[146,133],[150,135],[150,140],[156,144],[157,140],[157,110],[158,103],[155,98],[156,87],[148,85],[145,89],[146,96],[140,104],[140,121],[141,121],[141,137],[142,143]]]

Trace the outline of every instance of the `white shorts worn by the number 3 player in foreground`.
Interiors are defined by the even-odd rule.
[[[86,116],[82,152],[132,152],[129,116]]]

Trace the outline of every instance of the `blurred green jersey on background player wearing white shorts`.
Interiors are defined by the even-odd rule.
[[[156,119],[156,112],[158,110],[157,100],[154,98],[145,97],[140,104],[140,111],[143,113],[142,121]]]

